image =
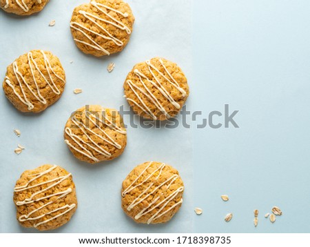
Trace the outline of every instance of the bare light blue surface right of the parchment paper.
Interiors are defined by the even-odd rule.
[[[193,105],[240,110],[238,129],[194,131],[196,232],[310,233],[309,13],[307,0],[194,1]]]

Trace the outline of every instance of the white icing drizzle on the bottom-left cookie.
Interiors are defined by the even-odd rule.
[[[43,184],[50,184],[50,186],[46,187],[45,189],[39,190],[37,192],[34,192],[34,194],[30,195],[29,198],[25,198],[23,201],[17,201],[16,202],[17,206],[21,206],[21,205],[25,205],[25,204],[32,204],[35,201],[41,201],[43,199],[47,199],[47,198],[50,198],[50,197],[58,196],[58,197],[56,197],[56,199],[54,199],[52,201],[49,201],[47,204],[43,204],[39,208],[32,210],[30,213],[28,213],[28,215],[21,215],[19,217],[19,221],[23,222],[23,221],[32,221],[32,220],[41,219],[41,218],[45,217],[45,215],[51,215],[52,213],[56,213],[56,212],[58,212],[60,210],[64,210],[65,209],[65,211],[63,211],[63,213],[55,215],[54,217],[51,217],[50,219],[46,219],[45,221],[39,221],[39,222],[37,222],[36,224],[33,225],[34,227],[37,227],[37,226],[40,226],[41,224],[45,224],[45,223],[47,223],[49,221],[52,221],[53,219],[56,219],[57,217],[60,217],[61,215],[65,215],[66,213],[70,212],[70,210],[72,210],[73,208],[76,207],[76,204],[71,204],[71,205],[66,204],[65,206],[62,206],[60,208],[56,208],[56,209],[51,210],[51,211],[49,211],[47,213],[43,213],[43,214],[41,214],[41,215],[39,215],[37,217],[31,217],[31,215],[33,215],[34,213],[38,212],[42,208],[45,208],[45,207],[47,207],[50,204],[54,204],[58,199],[61,199],[61,198],[65,197],[65,196],[69,195],[72,192],[72,188],[68,188],[67,190],[63,190],[63,191],[56,192],[56,193],[51,194],[51,195],[46,195],[44,197],[39,197],[37,199],[34,199],[34,197],[36,197],[37,195],[39,195],[42,192],[45,192],[47,190],[50,190],[51,188],[53,188],[54,186],[60,184],[62,181],[64,181],[65,179],[68,179],[72,175],[71,173],[69,173],[68,175],[61,176],[61,177],[55,177],[54,179],[50,179],[48,181],[44,181],[44,182],[41,182],[39,184],[34,184],[34,185],[30,186],[30,184],[32,184],[33,181],[35,181],[36,179],[39,179],[39,177],[42,177],[45,174],[48,174],[49,172],[52,172],[52,170],[54,170],[56,167],[57,166],[54,165],[51,168],[49,168],[48,170],[45,170],[45,171],[37,173],[37,174],[29,175],[28,177],[30,177],[30,176],[35,176],[35,177],[30,179],[27,184],[25,184],[23,186],[17,186],[17,187],[14,188],[14,192],[21,192],[21,191],[24,191],[24,190],[29,190],[30,188],[35,188],[37,186],[41,186]]]

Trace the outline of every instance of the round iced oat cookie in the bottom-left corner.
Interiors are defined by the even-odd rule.
[[[59,228],[70,221],[77,208],[72,175],[55,165],[26,170],[16,182],[13,201],[21,226]]]

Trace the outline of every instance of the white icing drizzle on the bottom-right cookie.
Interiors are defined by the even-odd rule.
[[[130,211],[132,210],[132,208],[134,208],[135,206],[137,206],[138,204],[141,204],[141,202],[143,202],[145,199],[147,199],[149,196],[154,195],[156,193],[156,191],[160,188],[162,188],[163,186],[167,186],[166,190],[168,190],[170,188],[170,186],[172,185],[172,183],[174,181],[176,181],[176,179],[178,179],[178,175],[172,175],[172,177],[169,177],[167,180],[163,181],[163,183],[161,183],[160,185],[156,186],[156,188],[154,188],[151,192],[148,192],[149,189],[152,188],[152,186],[154,186],[154,184],[156,184],[156,182],[158,181],[159,177],[161,177],[161,174],[163,172],[163,168],[165,168],[165,164],[161,164],[161,166],[159,166],[158,168],[156,168],[154,171],[152,171],[151,174],[149,174],[149,176],[147,176],[146,179],[144,179],[143,181],[141,181],[141,183],[136,184],[136,181],[138,181],[138,179],[146,172],[146,170],[152,166],[153,162],[149,162],[149,164],[147,165],[147,167],[140,173],[140,175],[138,175],[138,177],[136,177],[136,179],[134,179],[134,181],[132,181],[132,184],[130,184],[130,186],[128,186],[123,192],[122,192],[122,196],[125,197],[125,195],[127,195],[130,191],[134,190],[134,188],[137,188],[139,186],[142,186],[143,184],[145,184],[147,181],[149,181],[149,179],[151,179],[151,177],[154,177],[154,174],[156,172],[158,172],[158,175],[153,179],[152,182],[149,183],[149,186],[147,186],[147,188],[141,192],[140,195],[138,195],[138,197],[136,197],[136,199],[134,199],[134,201],[132,201],[132,203],[130,204],[130,206],[127,207],[127,210]],[[169,184],[168,184],[169,183]],[[168,185],[166,185],[168,184]],[[154,213],[152,215],[152,217],[149,217],[149,219],[147,220],[147,224],[152,223],[152,221],[154,221],[155,219],[158,219],[159,217],[165,215],[166,213],[168,213],[170,210],[172,210],[173,208],[175,208],[176,206],[178,206],[179,204],[182,204],[183,199],[181,198],[180,201],[178,201],[176,204],[174,204],[173,206],[171,206],[170,208],[168,208],[167,210],[163,211],[163,209],[165,208],[165,206],[167,206],[172,200],[174,200],[174,198],[176,198],[178,196],[178,194],[180,192],[183,192],[184,187],[180,186],[179,188],[177,188],[176,190],[174,190],[174,192],[172,192],[168,197],[165,197],[163,200],[159,201],[159,199],[161,199],[162,195],[158,195],[156,198],[153,199],[153,201],[149,204],[149,206],[147,206],[147,208],[143,208],[143,210],[141,210],[134,218],[135,219],[139,219],[140,217],[142,217],[143,215],[147,215],[148,213],[151,213],[155,208],[159,208],[157,210],[156,213]],[[142,197],[142,198],[141,198]],[[153,196],[155,197],[155,195]],[[157,203],[158,202],[158,203]],[[156,204],[157,203],[157,204]]]

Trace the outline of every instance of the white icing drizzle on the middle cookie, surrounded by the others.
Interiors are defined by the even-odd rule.
[[[118,148],[118,149],[122,148],[122,146],[120,144],[118,144],[114,139],[112,139],[112,137],[110,137],[110,135],[108,135],[107,132],[105,132],[105,130],[103,130],[103,128],[101,128],[97,124],[97,121],[99,121],[101,124],[104,124],[105,126],[111,128],[112,130],[115,130],[118,133],[126,135],[126,131],[123,130],[122,128],[116,126],[115,124],[113,124],[110,119],[105,117],[105,114],[101,114],[101,116],[103,119],[105,119],[105,121],[103,121],[102,119],[99,119],[99,117],[96,117],[90,111],[88,111],[88,110],[85,111],[85,117],[88,120],[90,120],[92,122],[92,124],[94,124],[94,126],[96,126],[96,128],[98,128],[103,133],[103,135],[98,135],[96,132],[94,132],[90,128],[87,128],[82,121],[79,121],[79,119],[76,119],[76,117],[74,117],[74,116],[71,117],[71,121],[74,124],[74,126],[78,127],[80,130],[82,130],[83,134],[87,137],[87,139],[92,144],[88,144],[81,137],[74,135],[71,128],[68,128],[68,127],[65,128],[65,133],[70,137],[70,139],[72,139],[72,141],[74,141],[75,144],[77,144],[79,146],[79,148],[76,148],[74,145],[72,145],[68,139],[65,139],[65,144],[67,144],[68,146],[70,146],[71,148],[76,150],[76,152],[81,153],[82,155],[92,159],[95,162],[99,162],[99,159],[97,159],[90,150],[93,150],[94,152],[98,152],[99,154],[104,155],[105,157],[111,157],[111,153],[108,152],[107,150],[105,150],[104,148],[101,148],[101,146],[99,146],[98,144],[96,144],[96,142],[92,139],[92,137],[90,137],[90,135],[87,134],[87,132],[90,132],[92,135],[99,137],[99,139],[107,142],[108,144],[111,144],[115,148]],[[96,119],[97,121],[94,119]],[[85,144],[88,148],[90,148],[90,150],[85,148],[85,146],[83,146],[83,144]]]

